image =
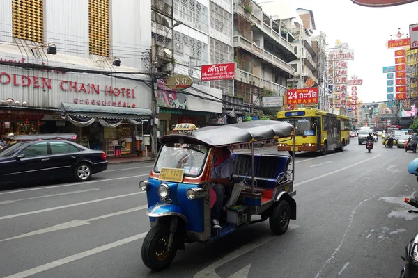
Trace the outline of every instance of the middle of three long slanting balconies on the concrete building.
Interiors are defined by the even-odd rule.
[[[273,54],[270,54],[270,52],[265,51],[261,47],[258,47],[256,44],[251,43],[249,40],[241,37],[240,35],[235,35],[235,37],[233,37],[233,47],[241,47],[242,49],[249,51],[249,53],[267,61],[274,67],[279,67],[279,69],[284,70],[289,74],[293,74],[294,72],[293,67],[285,63],[283,60],[277,58],[277,56],[274,56]]]

